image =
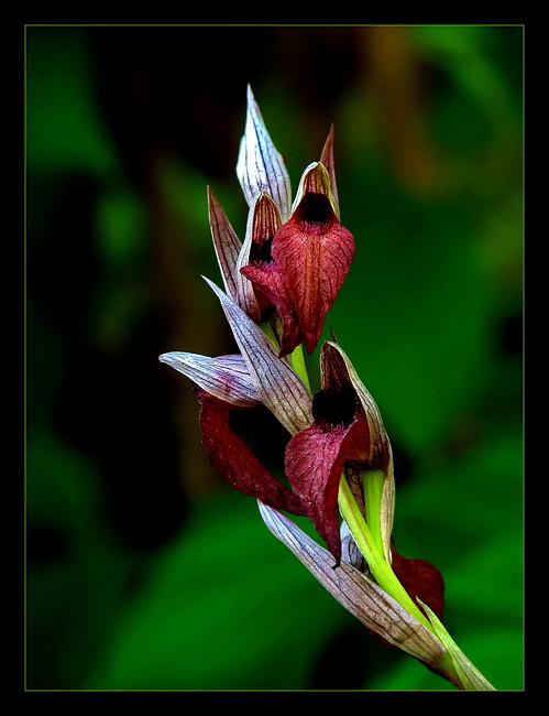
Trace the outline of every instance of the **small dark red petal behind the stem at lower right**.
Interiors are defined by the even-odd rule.
[[[440,572],[425,560],[407,560],[400,556],[394,545],[392,553],[393,572],[411,599],[416,601],[416,597],[419,597],[442,620],[444,581]]]

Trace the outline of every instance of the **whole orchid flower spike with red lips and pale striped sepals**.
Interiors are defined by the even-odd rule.
[[[244,240],[208,187],[224,291],[206,281],[239,352],[160,357],[193,381],[208,459],[233,488],[256,498],[271,532],[371,632],[458,688],[491,691],[442,626],[440,573],[396,551],[391,443],[375,401],[333,335],[320,349],[320,389],[311,393],[309,386],[303,349],[315,351],[355,251],[340,221],[333,127],[292,202],[285,162],[249,87],[237,174],[249,206]],[[232,427],[234,411],[259,405],[289,434],[287,484]],[[283,512],[308,518],[326,547]]]

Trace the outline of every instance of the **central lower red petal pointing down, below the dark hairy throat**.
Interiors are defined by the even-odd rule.
[[[355,425],[358,423],[326,430],[314,424],[297,433],[286,447],[289,484],[301,498],[308,518],[338,563],[341,560],[339,482]]]

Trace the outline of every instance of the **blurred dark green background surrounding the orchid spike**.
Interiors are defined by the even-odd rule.
[[[326,335],[392,440],[399,552],[441,569],[450,633],[521,690],[523,29],[25,41],[26,687],[451,690],[212,473],[191,386],[157,361],[234,349],[200,274],[221,282],[208,184],[243,237],[250,83],[294,189],[336,126],[358,250]]]

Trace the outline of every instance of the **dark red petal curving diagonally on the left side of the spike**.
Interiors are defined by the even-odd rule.
[[[292,514],[305,516],[306,510],[297,495],[268,473],[248,445],[229,425],[232,405],[196,389],[200,402],[200,432],[202,445],[212,467],[234,489],[252,496]]]

